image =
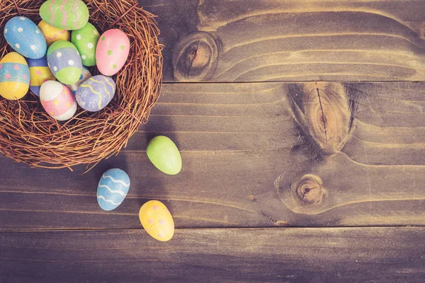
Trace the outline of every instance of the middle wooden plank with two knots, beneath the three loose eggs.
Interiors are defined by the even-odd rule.
[[[86,175],[0,157],[0,229],[139,228],[149,199],[165,202],[179,228],[425,225],[424,89],[166,84],[128,148]],[[179,175],[149,163],[147,141],[157,134],[181,149]],[[132,187],[118,209],[103,212],[96,186],[114,167]]]

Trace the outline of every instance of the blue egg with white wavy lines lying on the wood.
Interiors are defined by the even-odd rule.
[[[97,200],[107,212],[117,208],[127,196],[130,178],[121,169],[114,168],[103,173],[98,184]]]

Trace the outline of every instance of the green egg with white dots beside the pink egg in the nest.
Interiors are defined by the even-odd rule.
[[[96,65],[96,47],[100,36],[98,30],[91,23],[72,32],[71,41],[77,47],[84,66]]]

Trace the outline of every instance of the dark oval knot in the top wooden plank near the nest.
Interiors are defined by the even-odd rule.
[[[174,48],[174,77],[179,81],[208,80],[217,67],[217,57],[218,45],[210,33],[192,33]]]

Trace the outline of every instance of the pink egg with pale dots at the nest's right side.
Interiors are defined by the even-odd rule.
[[[113,76],[124,66],[130,52],[130,40],[121,30],[106,30],[96,47],[96,66],[105,76]]]

